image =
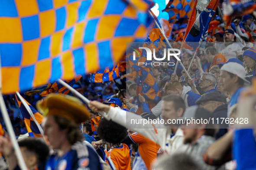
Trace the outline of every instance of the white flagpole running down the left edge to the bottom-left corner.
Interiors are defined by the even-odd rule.
[[[0,57],[1,58],[1,57]],[[6,109],[6,105],[3,100],[3,94],[2,94],[2,73],[1,73],[1,60],[0,60],[0,109],[3,115],[4,123],[6,124],[7,132],[10,136],[11,142],[13,144],[14,151],[16,153],[17,160],[19,162],[19,167],[21,170],[27,170],[26,164],[24,162],[24,158],[21,154],[21,151],[19,149],[19,144],[16,140],[16,136],[13,130],[13,126],[9,117],[9,114]]]

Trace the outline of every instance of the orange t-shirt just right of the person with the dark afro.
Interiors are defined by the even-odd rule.
[[[139,144],[139,155],[143,159],[147,169],[150,170],[150,165],[152,161],[156,159],[156,154],[160,146],[137,132],[133,133],[129,137],[134,143]]]

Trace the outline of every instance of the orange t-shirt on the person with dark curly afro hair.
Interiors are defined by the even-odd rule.
[[[110,149],[108,152],[117,170],[131,170],[130,150],[126,144]]]

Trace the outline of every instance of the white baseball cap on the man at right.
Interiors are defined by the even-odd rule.
[[[232,74],[235,74],[239,78],[243,79],[243,81],[245,83],[250,84],[250,82],[245,79],[246,71],[245,71],[244,67],[241,64],[230,62],[230,63],[224,64],[221,67],[220,70],[227,71],[227,72],[230,72]]]

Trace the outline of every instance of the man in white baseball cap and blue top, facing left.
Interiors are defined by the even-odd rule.
[[[227,63],[220,69],[219,85],[222,90],[227,91],[230,95],[227,114],[231,106],[237,103],[240,92],[243,90],[244,83],[250,83],[245,79],[246,71],[241,64]]]

